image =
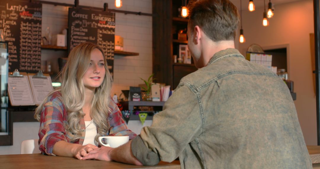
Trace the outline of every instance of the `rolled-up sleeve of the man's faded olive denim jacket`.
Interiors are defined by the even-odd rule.
[[[191,87],[181,85],[176,89],[163,111],[153,117],[152,125],[143,127],[140,137],[132,141],[132,153],[143,165],[155,165],[159,160],[172,162],[201,134],[201,106]]]

